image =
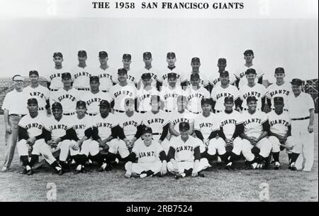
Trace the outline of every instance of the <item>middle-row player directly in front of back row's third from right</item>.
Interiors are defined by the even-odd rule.
[[[191,86],[186,89],[187,109],[189,112],[198,114],[201,112],[201,99],[209,98],[208,90],[200,85],[201,77],[199,73],[191,74]]]

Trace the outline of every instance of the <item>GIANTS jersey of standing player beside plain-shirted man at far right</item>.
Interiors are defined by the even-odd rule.
[[[291,90],[291,85],[288,82],[284,82],[283,85],[277,85],[276,83],[269,85],[267,87],[266,97],[272,100],[272,107],[274,108],[274,97],[283,97],[284,98],[284,107],[287,107],[287,97],[289,96]]]

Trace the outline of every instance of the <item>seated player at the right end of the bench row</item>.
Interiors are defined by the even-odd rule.
[[[296,171],[296,160],[301,152],[301,146],[295,145],[295,140],[291,136],[291,120],[289,113],[284,111],[284,97],[274,97],[275,109],[268,113],[270,124],[269,141],[272,143],[272,158],[274,158],[274,169],[279,170],[279,152],[286,151],[289,156],[289,169]]]

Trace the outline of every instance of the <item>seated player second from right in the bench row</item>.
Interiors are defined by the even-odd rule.
[[[250,163],[251,168],[263,168],[270,151],[272,143],[266,136],[269,134],[269,120],[267,114],[257,109],[257,98],[247,97],[247,112],[242,112],[242,124],[244,131],[242,137],[242,155]],[[254,156],[254,149],[259,148],[258,156]]]

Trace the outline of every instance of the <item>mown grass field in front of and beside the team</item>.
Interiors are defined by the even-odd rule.
[[[56,201],[259,201],[259,185],[269,185],[269,201],[318,202],[318,114],[315,116],[315,163],[310,173],[287,169],[288,158],[281,153],[281,171],[224,171],[213,166],[206,178],[175,180],[172,175],[127,179],[123,165],[108,173],[52,175],[40,168],[32,176],[18,171],[18,154],[11,171],[0,173],[0,201],[47,201],[47,183],[55,183]],[[0,116],[0,164],[4,161],[4,120]]]

